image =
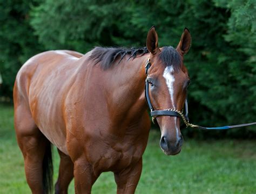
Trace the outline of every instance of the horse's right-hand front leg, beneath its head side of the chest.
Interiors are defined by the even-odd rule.
[[[142,174],[142,158],[134,166],[119,173],[114,173],[114,180],[117,183],[117,193],[134,193]]]

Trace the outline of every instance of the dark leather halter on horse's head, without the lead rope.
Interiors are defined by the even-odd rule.
[[[150,108],[150,115],[152,116],[152,121],[153,123],[155,123],[156,118],[158,116],[172,116],[172,117],[180,117],[182,118],[182,113],[181,111],[175,110],[175,109],[165,109],[165,110],[154,110],[151,101],[150,101],[150,96],[149,96],[149,68],[151,67],[151,63],[150,63],[150,58],[147,59],[146,65],[145,65],[145,73],[147,75],[146,77],[146,84],[145,84],[145,98],[146,98],[146,102],[147,105]],[[188,106],[187,106],[187,98],[185,100],[185,115],[184,115],[185,119],[187,121],[189,121],[188,119]]]

